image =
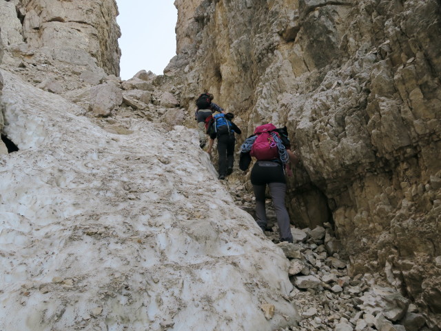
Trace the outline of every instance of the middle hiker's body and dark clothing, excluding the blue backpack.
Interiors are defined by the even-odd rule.
[[[212,147],[214,143],[214,139],[218,139],[218,154],[219,154],[219,161],[218,161],[218,172],[219,172],[219,179],[225,179],[225,176],[228,174],[231,174],[233,172],[233,165],[234,165],[234,145],[236,143],[236,137],[234,137],[234,134],[241,134],[242,131],[232,122],[232,119],[234,118],[234,114],[231,112],[228,112],[225,114],[225,119],[229,121],[231,124],[231,128],[229,132],[224,134],[218,134],[216,130],[211,130],[211,128],[208,128],[208,132],[212,131],[210,134],[210,139],[208,143],[208,150],[207,152],[211,154]],[[216,123],[213,121],[210,126],[215,126]]]

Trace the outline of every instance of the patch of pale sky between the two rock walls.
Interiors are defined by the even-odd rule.
[[[130,79],[139,70],[163,74],[176,55],[174,28],[178,11],[174,0],[116,0],[121,28],[121,78]]]

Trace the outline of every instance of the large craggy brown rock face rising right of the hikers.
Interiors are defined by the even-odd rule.
[[[351,272],[382,272],[441,328],[440,1],[176,6],[188,32],[165,73],[181,70],[187,123],[209,90],[244,137],[287,125],[293,223],[334,223]]]

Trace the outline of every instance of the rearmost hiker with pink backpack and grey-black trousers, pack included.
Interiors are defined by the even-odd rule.
[[[243,171],[247,170],[252,157],[256,158],[257,161],[251,171],[251,183],[256,197],[256,223],[265,232],[267,227],[265,190],[268,185],[276,211],[280,242],[292,243],[289,214],[285,207],[287,190],[285,170],[289,174],[291,172],[289,161],[296,164],[298,158],[289,148],[286,127],[278,129],[271,123],[258,126],[254,134],[245,139],[240,146],[239,168]]]

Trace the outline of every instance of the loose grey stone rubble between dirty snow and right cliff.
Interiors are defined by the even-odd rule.
[[[234,174],[230,177],[223,184],[236,203],[253,214],[252,193],[237,185]],[[329,225],[314,229],[293,227],[294,243],[278,243],[276,216],[270,201],[267,216],[269,230],[265,234],[289,259],[289,276],[295,286],[289,300],[298,306],[302,317],[296,325],[278,331],[429,330],[424,326],[423,314],[384,283],[380,274],[349,276],[344,252],[326,247],[325,241],[338,243]]]

